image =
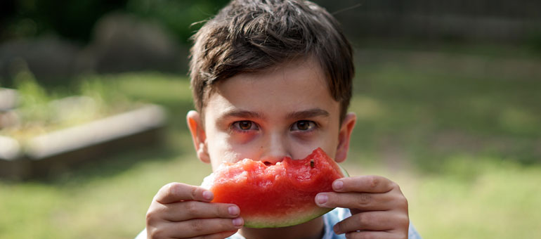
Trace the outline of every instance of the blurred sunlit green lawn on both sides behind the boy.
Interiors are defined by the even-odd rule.
[[[365,49],[357,60],[351,175],[396,181],[424,238],[541,235],[539,59]],[[91,78],[164,105],[166,145],[48,179],[0,181],[0,238],[133,238],[161,186],[209,174],[185,127],[186,77]]]

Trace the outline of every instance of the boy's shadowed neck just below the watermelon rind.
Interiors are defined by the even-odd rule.
[[[304,224],[281,228],[242,228],[240,235],[246,239],[320,239],[324,228],[323,218],[318,217]]]

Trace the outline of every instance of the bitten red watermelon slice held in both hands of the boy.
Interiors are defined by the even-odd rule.
[[[318,148],[303,160],[284,157],[273,165],[250,159],[224,163],[203,186],[214,193],[212,202],[239,206],[245,226],[275,228],[329,212],[315,205],[315,195],[332,191],[332,182],[344,176],[347,173]]]

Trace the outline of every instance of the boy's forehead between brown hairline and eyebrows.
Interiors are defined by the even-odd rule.
[[[268,110],[282,105],[294,106],[337,103],[331,95],[327,77],[313,60],[299,60],[260,72],[241,73],[216,82],[209,92],[207,103],[214,110],[226,105],[245,105],[245,108]],[[216,98],[223,98],[215,101]],[[328,101],[328,102],[326,102]],[[220,106],[216,108],[216,103]],[[278,109],[281,110],[281,109]]]

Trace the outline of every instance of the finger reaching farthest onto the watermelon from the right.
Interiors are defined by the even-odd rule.
[[[320,207],[345,207],[362,211],[379,211],[396,207],[398,198],[393,193],[318,193],[315,204]]]

